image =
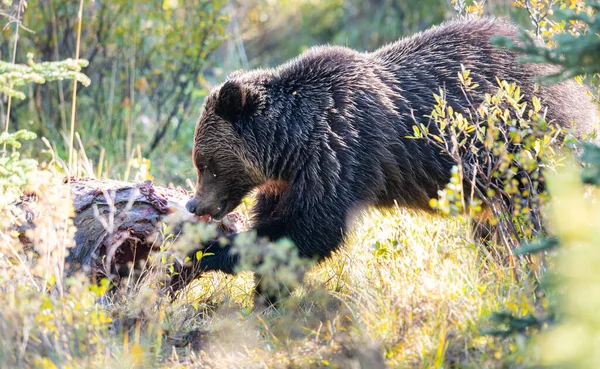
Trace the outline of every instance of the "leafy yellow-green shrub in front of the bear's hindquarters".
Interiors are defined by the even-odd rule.
[[[467,96],[478,88],[468,70],[459,79]],[[506,246],[514,250],[541,230],[539,212],[546,195],[538,191],[539,164],[552,165],[552,147],[569,143],[569,132],[546,122],[538,97],[524,101],[520,88],[505,81],[499,81],[498,92],[486,94],[475,111],[454,111],[443,91],[435,98],[431,118],[439,132],[421,124],[413,127],[411,137],[427,139],[457,167],[439,199],[431,201],[432,207],[469,219],[483,208],[490,210],[492,223],[504,233]]]

